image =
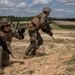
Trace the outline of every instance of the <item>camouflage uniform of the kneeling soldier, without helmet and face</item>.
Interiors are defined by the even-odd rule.
[[[8,25],[8,23],[6,23],[6,25]],[[12,42],[12,37],[15,37],[20,40],[22,39],[22,37],[18,34],[18,32],[13,32],[11,29],[9,32],[4,32],[0,30],[0,36],[3,37],[10,51],[11,51],[10,44]],[[3,50],[2,46],[0,46],[0,69],[2,68],[2,66],[7,66],[9,64],[9,59],[10,57],[8,52]]]

